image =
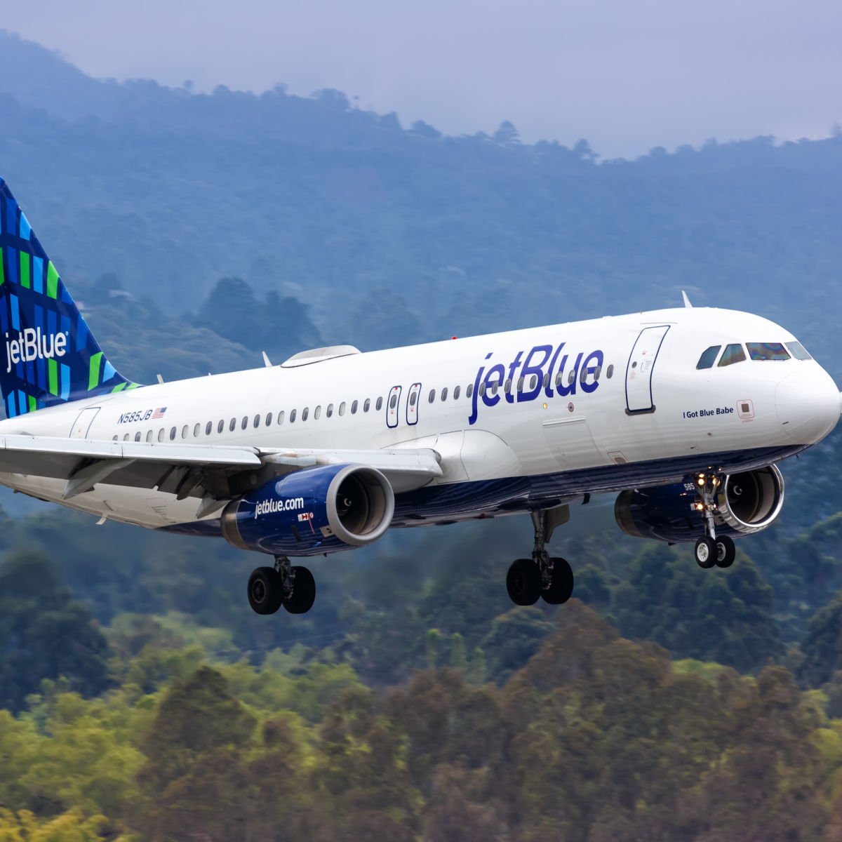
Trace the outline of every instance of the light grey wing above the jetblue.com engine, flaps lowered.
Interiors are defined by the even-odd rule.
[[[442,476],[434,450],[312,450],[0,436],[0,472],[65,480],[62,499],[96,483],[201,498],[196,516],[274,477],[354,462],[376,467],[396,493]]]

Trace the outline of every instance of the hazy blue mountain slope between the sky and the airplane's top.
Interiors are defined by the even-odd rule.
[[[333,90],[101,82],[8,33],[0,108],[0,173],[71,290],[110,273],[197,312],[237,277],[300,301],[326,342],[370,349],[674,306],[685,289],[785,323],[840,368],[839,136],[604,162],[507,123],[405,128]]]

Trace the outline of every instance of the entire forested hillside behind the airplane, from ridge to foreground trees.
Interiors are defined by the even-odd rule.
[[[154,381],[679,304],[759,312],[842,382],[842,137],[637,161],[445,137],[338,91],[85,77],[0,33],[0,175],[109,357]],[[573,507],[560,608],[518,516],[317,559],[0,510],[0,840],[842,839],[842,431],[733,568]]]

